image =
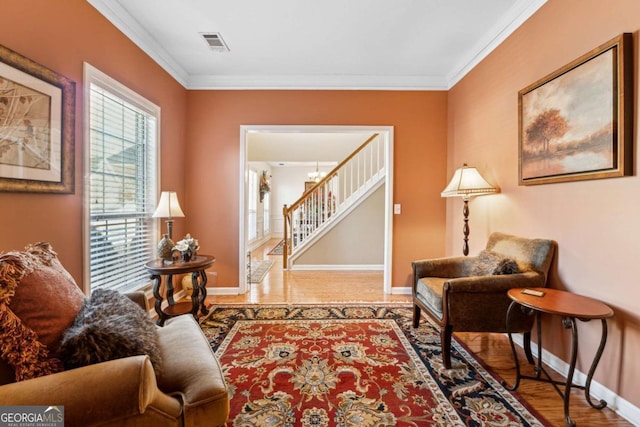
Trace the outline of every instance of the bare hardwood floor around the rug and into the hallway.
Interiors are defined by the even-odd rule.
[[[254,259],[273,259],[275,261],[262,283],[252,284],[250,291],[244,295],[208,296],[207,303],[390,303],[411,301],[410,295],[384,294],[381,271],[283,271],[282,256],[267,254],[278,241],[278,239],[272,239],[252,251]],[[514,364],[506,336],[477,333],[456,333],[455,336],[477,358],[482,360],[490,371],[505,379],[509,384],[513,383],[515,379]],[[522,351],[519,351],[519,360],[523,367],[523,373],[531,375],[532,372],[527,371],[530,366]],[[547,368],[547,371],[552,372],[550,368]],[[562,380],[559,374],[556,374],[555,378]],[[562,399],[550,384],[522,380],[517,392],[551,425],[565,425]],[[632,425],[610,408],[603,410],[591,408],[584,398],[584,391],[577,389],[571,393],[570,415],[578,426]]]

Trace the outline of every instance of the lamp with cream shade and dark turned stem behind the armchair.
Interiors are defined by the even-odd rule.
[[[497,189],[489,184],[476,168],[469,167],[465,163],[455,171],[449,185],[440,194],[442,197],[462,197],[464,201],[464,207],[462,208],[462,214],[464,215],[462,253],[464,256],[469,255],[469,199],[472,196],[482,196],[496,191]]]

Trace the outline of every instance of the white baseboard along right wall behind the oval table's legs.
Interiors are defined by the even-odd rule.
[[[514,334],[513,342],[522,347],[522,335]],[[531,342],[531,352],[534,356],[538,354],[538,345],[535,342]],[[542,362],[563,377],[567,377],[567,374],[569,373],[569,364],[554,354],[546,351],[544,348],[542,349]],[[573,373],[573,382],[577,384],[584,384],[586,381],[587,375],[576,369]],[[591,381],[590,391],[592,398],[604,400],[607,402],[607,407],[622,418],[626,419],[633,425],[640,425],[640,408],[634,406],[631,402],[618,396],[616,393],[595,380]],[[597,411],[597,409],[594,409],[594,411]]]

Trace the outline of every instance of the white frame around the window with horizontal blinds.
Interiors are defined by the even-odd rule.
[[[133,105],[135,105],[137,108],[139,108],[140,110],[146,112],[149,115],[152,115],[155,117],[155,135],[156,135],[156,141],[155,141],[155,179],[151,178],[150,181],[155,181],[153,182],[153,188],[150,189],[151,192],[153,192],[153,194],[151,194],[151,198],[153,200],[151,209],[154,209],[155,206],[157,206],[158,204],[158,194],[159,194],[159,189],[160,187],[160,164],[161,164],[161,158],[160,158],[160,147],[161,147],[161,133],[160,133],[160,129],[161,129],[161,109],[159,106],[157,106],[156,104],[154,104],[153,102],[149,101],[148,99],[146,99],[145,97],[143,97],[142,95],[139,95],[137,92],[133,91],[132,89],[128,88],[127,86],[125,86],[124,84],[120,83],[119,81],[113,79],[112,77],[108,76],[107,74],[105,74],[104,72],[100,71],[99,69],[97,69],[96,67],[92,66],[89,63],[84,63],[83,64],[83,79],[84,79],[84,107],[83,107],[83,115],[84,115],[84,140],[85,140],[85,146],[84,146],[84,179],[83,179],[83,183],[84,183],[84,187],[83,187],[83,191],[84,191],[84,203],[83,203],[83,236],[82,236],[82,242],[83,242],[83,282],[82,282],[82,289],[84,291],[84,293],[86,295],[89,295],[91,293],[91,203],[90,203],[90,196],[91,196],[91,86],[92,84],[95,84],[97,86],[100,86],[101,88],[103,88],[104,90],[111,92],[113,95],[116,95],[120,98],[122,98],[123,100],[125,100],[126,102],[129,102]],[[153,212],[149,213],[149,217],[151,218],[151,214]],[[160,231],[159,231],[159,221],[156,218],[151,218],[152,220],[152,231],[151,234],[155,237],[155,240],[157,241],[159,239],[160,236]],[[149,259],[153,259],[155,257],[155,252],[152,250],[150,250],[149,253]],[[135,290],[135,289],[146,289],[149,288],[151,286],[151,280],[149,279],[148,283],[145,283],[144,285],[138,287],[138,288],[133,288],[133,289],[128,289],[128,290]]]

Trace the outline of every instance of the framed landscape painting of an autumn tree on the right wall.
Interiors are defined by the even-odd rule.
[[[622,34],[518,93],[520,185],[633,173],[633,51]]]

